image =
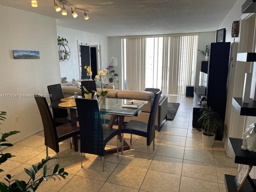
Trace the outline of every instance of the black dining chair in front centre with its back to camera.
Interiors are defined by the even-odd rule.
[[[95,154],[102,157],[102,172],[104,172],[104,148],[114,136],[117,136],[118,157],[118,129],[105,127],[96,100],[76,98],[76,108],[80,126],[81,167],[83,153]]]

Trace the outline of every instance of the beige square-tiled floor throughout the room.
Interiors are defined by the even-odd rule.
[[[156,131],[155,150],[150,146],[147,160],[145,138],[133,135],[133,143],[124,156],[106,155],[105,171],[102,172],[101,158],[86,154],[83,168],[80,152],[69,147],[69,141],[60,143],[60,166],[68,172],[66,180],[43,182],[38,188],[49,192],[225,192],[224,174],[236,175],[238,164],[227,158],[222,142],[207,148],[202,144],[201,132],[192,128],[193,98],[168,96],[168,102],[179,102],[180,106],[173,121],[166,121],[160,132]],[[127,142],[130,135],[125,135]],[[115,146],[115,138],[110,141]],[[4,152],[12,157],[1,165],[0,181],[6,174],[28,180],[23,171],[45,158],[43,132],[31,136]],[[49,155],[56,155],[49,150]],[[48,162],[53,169],[56,161]]]

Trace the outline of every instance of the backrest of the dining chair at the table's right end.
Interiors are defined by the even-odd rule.
[[[148,130],[147,130],[147,145],[150,145],[152,140],[155,138],[155,119],[156,119],[156,110],[158,107],[158,102],[162,91],[158,91],[155,94],[153,104],[151,106],[150,115],[148,118]]]

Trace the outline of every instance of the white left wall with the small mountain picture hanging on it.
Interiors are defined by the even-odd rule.
[[[0,110],[7,120],[0,132],[19,130],[8,138],[15,143],[42,129],[42,120],[33,97],[19,94],[48,94],[47,86],[60,83],[56,21],[53,18],[0,6]],[[40,59],[14,59],[13,50],[40,52]],[[3,97],[18,94],[18,97]],[[14,116],[19,116],[15,123]]]

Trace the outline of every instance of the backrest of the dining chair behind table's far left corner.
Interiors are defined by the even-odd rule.
[[[58,101],[64,98],[64,94],[60,84],[48,85],[47,88],[48,88],[49,94],[51,95],[50,96],[51,102]],[[54,119],[61,118],[68,114],[68,110],[52,108],[52,114]]]

